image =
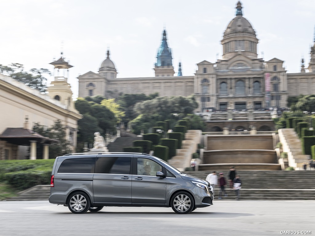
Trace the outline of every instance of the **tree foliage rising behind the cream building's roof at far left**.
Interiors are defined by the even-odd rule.
[[[12,63],[9,66],[4,66],[0,64],[0,73],[11,76],[13,79],[24,83],[41,93],[46,93],[47,91],[47,79],[43,75],[51,75],[51,72],[44,68],[33,68],[30,70],[30,72],[26,72],[24,71],[23,65],[19,63]]]

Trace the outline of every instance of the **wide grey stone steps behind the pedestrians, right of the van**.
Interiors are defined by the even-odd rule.
[[[217,170],[217,174],[219,174]],[[226,192],[224,200],[235,199],[235,192],[228,184],[228,171],[224,173]],[[185,171],[206,179],[209,171]],[[241,200],[315,200],[315,171],[237,171],[242,180]],[[218,176],[219,181],[219,176]],[[220,186],[215,186],[218,199]]]

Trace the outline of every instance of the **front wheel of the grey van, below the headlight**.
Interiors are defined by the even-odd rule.
[[[195,208],[195,201],[191,194],[178,192],[171,199],[171,207],[177,214],[188,214]]]

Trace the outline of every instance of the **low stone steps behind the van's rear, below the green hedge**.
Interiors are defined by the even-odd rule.
[[[6,199],[7,201],[48,200],[50,185],[36,185],[19,193],[17,197]]]

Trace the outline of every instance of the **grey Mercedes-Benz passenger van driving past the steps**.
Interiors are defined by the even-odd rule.
[[[76,214],[104,206],[172,207],[187,214],[212,205],[207,181],[143,153],[79,153],[56,158],[49,202]]]

